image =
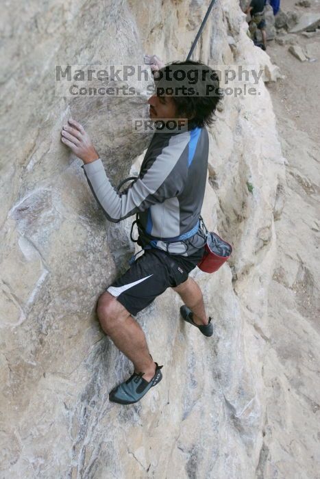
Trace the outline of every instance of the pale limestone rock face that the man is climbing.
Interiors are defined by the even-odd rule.
[[[193,272],[214,337],[182,324],[180,299],[167,290],[137,316],[162,382],[132,406],[108,401],[132,364],[104,335],[95,306],[127,268],[131,221],[106,221],[60,130],[71,115],[82,122],[117,185],[150,139],[132,131],[132,119],[147,115],[147,84],[140,96],[56,96],[56,65],[183,59],[207,4],[13,0],[2,12],[1,479],[305,477],[301,463],[289,464],[298,432],[285,475],[269,454],[277,437],[263,439],[262,324],[284,158],[262,79],[256,96],[225,95],[210,128],[203,216],[234,246],[216,274]],[[217,2],[193,57],[255,65],[275,80],[246,31],[238,1]]]

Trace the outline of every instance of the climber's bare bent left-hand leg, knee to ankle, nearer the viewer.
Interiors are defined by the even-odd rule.
[[[110,293],[103,293],[98,302],[97,315],[103,331],[115,346],[134,363],[135,372],[144,372],[143,378],[151,380],[156,364],[151,359],[145,333],[129,311]]]

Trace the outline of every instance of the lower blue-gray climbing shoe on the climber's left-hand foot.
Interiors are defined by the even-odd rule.
[[[156,372],[149,382],[143,379],[144,372],[134,372],[124,383],[112,389],[109,400],[119,402],[119,404],[133,404],[140,401],[151,387],[156,386],[162,380],[161,368],[162,366],[156,363]]]

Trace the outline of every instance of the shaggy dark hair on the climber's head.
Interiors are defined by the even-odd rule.
[[[186,68],[183,68],[184,66],[186,66]],[[193,66],[195,68],[190,68]],[[172,69],[175,72],[179,70],[180,73],[196,73],[196,83],[190,82],[190,79],[189,81],[187,81],[186,79],[182,81],[180,79],[175,79],[174,81],[172,81],[171,79],[171,83],[168,83],[167,77],[165,81],[162,81],[166,71],[172,72]],[[199,75],[201,75],[201,79],[199,79]],[[167,64],[166,66],[158,70],[158,79],[156,78],[157,75],[154,76],[157,94],[158,92],[160,92],[160,90],[158,90],[158,87],[163,85],[167,86],[167,88],[170,88],[171,90],[172,87],[177,88],[177,86],[179,86],[181,90],[181,87],[183,85],[189,88],[193,87],[193,94],[179,93],[178,96],[176,96],[175,94],[171,95],[175,103],[177,116],[184,115],[186,116],[186,118],[192,118],[192,122],[197,127],[204,127],[204,125],[212,125],[212,123],[214,122],[214,112],[217,108],[217,103],[219,103],[219,101],[223,99],[223,91],[221,88],[219,88],[219,76],[217,75],[217,72],[215,70],[213,70],[212,68],[210,68],[210,66],[207,66],[204,63],[193,62],[193,60],[185,60],[183,62],[172,62],[170,64]],[[210,91],[210,94],[208,94],[208,90]],[[161,91],[162,93],[160,92],[158,96],[161,96],[161,94],[163,94],[163,90]]]

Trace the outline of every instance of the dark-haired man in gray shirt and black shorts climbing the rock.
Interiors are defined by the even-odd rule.
[[[168,65],[164,66],[156,55],[147,55],[145,62],[151,65],[155,83],[160,85],[160,74],[164,74]],[[153,133],[138,178],[121,194],[112,187],[82,125],[70,118],[61,132],[62,142],[84,161],[82,168],[90,189],[108,220],[119,222],[138,213],[138,244],[145,248],[144,254],[108,286],[97,304],[103,331],[134,364],[132,376],[109,394],[110,400],[119,404],[137,402],[162,379],[162,365],[153,361],[143,329],[132,316],[168,287],[184,302],[180,308],[182,318],[207,337],[213,333],[201,289],[188,274],[204,255],[199,216],[208,166],[206,125],[212,124],[223,94],[217,72],[210,67],[191,60],[169,64],[169,68],[173,66],[180,70],[208,71],[208,81],[216,94],[203,94],[204,81],[193,85],[192,96],[157,94],[160,91],[157,86],[156,93],[148,99],[150,118],[154,122],[187,118],[188,122],[179,131]]]

